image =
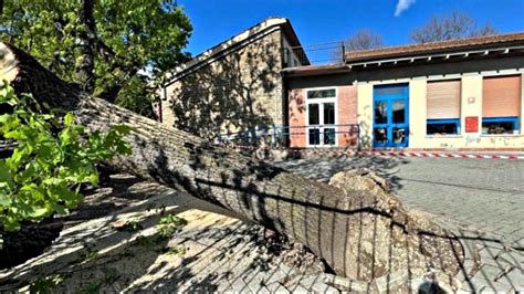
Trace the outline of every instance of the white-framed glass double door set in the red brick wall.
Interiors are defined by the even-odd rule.
[[[307,104],[307,145],[310,147],[336,146],[334,102]]]

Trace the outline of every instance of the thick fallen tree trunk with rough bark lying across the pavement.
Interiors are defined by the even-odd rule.
[[[427,218],[415,218],[371,174],[307,180],[202,138],[158,124],[57,78],[10,44],[0,45],[1,78],[52,107],[74,112],[91,130],[134,128],[133,155],[114,168],[187,191],[302,242],[339,275],[371,281],[391,272],[455,274],[462,248]]]

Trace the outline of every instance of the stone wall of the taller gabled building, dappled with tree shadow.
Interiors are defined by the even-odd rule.
[[[175,127],[209,140],[239,133],[240,143],[258,143],[256,129],[282,124],[280,54],[276,42],[256,41],[175,82]]]

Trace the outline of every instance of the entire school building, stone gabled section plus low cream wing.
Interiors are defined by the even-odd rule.
[[[523,73],[524,32],[311,65],[290,21],[271,18],[175,70],[158,112],[211,139],[292,148],[524,150]]]

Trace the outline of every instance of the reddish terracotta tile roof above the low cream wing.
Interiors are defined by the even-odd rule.
[[[346,53],[346,62],[368,61],[386,57],[411,56],[423,53],[453,52],[470,48],[489,48],[524,42],[524,32],[474,36],[460,40],[429,42],[412,45],[390,46]]]

